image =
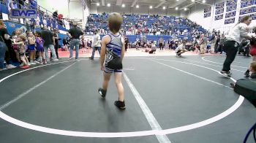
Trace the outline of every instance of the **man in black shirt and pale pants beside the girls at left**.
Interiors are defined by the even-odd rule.
[[[50,53],[53,55],[52,60],[53,61],[59,61],[59,59],[56,57],[56,52],[54,49],[55,45],[55,39],[53,36],[53,33],[48,30],[48,28],[44,28],[42,31],[42,39],[44,39],[44,50],[45,50],[45,58],[47,61],[50,61],[49,55],[48,55],[48,48],[50,48]]]

